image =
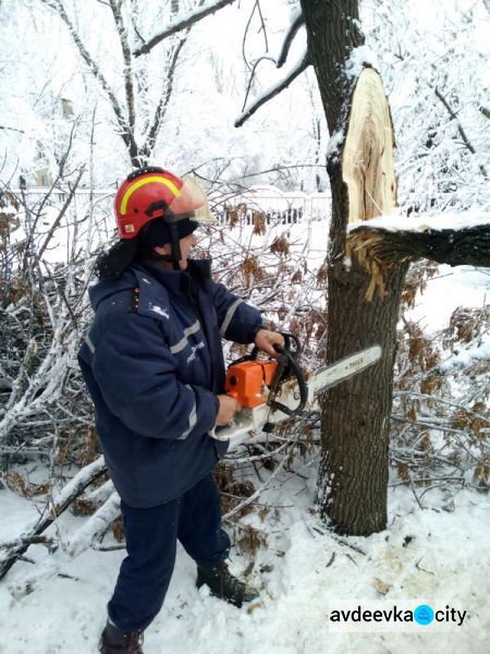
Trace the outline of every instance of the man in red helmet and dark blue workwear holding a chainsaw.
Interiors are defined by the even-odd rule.
[[[230,538],[212,470],[228,444],[210,434],[240,410],[224,395],[221,336],[271,356],[283,338],[212,281],[208,261],[188,258],[194,230],[210,218],[196,182],[143,168],[122,183],[114,209],[120,241],[99,261],[89,289],[95,319],[78,360],[127,549],[100,652],[138,654],[162,606],[177,538],[197,564],[198,586],[238,607],[258,594],[225,564]]]

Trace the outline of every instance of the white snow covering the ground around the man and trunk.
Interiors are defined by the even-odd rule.
[[[488,303],[489,281],[485,271],[441,267],[414,316],[439,329],[455,306]],[[249,518],[269,540],[252,572],[264,585],[260,602],[238,610],[196,590],[193,561],[180,549],[164,607],[146,633],[147,654],[489,651],[488,495],[464,489],[448,504],[434,489],[420,509],[411,489],[395,486],[389,492],[388,529],[345,540],[330,533],[315,514],[315,462],[296,468],[307,479],[283,473],[264,497],[283,507],[278,517],[264,523]],[[32,502],[2,489],[0,541],[14,538],[35,516]],[[58,529],[68,535],[81,520],[63,514]],[[27,554],[36,560],[47,557],[41,546],[32,546]],[[0,654],[95,654],[123,556],[89,550],[63,567],[75,579],[54,577],[23,596],[13,588],[33,566],[17,562],[0,584]],[[234,571],[242,572],[248,562],[232,552]],[[395,628],[388,633],[335,633],[328,620],[329,603],[340,600],[363,607],[383,601],[387,607],[404,609],[427,603],[466,610],[467,617],[461,627],[438,632],[433,623],[414,623],[408,633]]]

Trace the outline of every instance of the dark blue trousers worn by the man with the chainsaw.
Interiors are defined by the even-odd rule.
[[[212,474],[176,499],[149,509],[121,501],[127,556],[108,604],[122,631],[146,629],[160,610],[172,577],[176,540],[199,565],[223,561],[230,538],[221,529],[219,492]]]

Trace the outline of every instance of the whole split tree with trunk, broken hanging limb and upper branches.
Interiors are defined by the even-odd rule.
[[[210,2],[208,8],[220,9],[228,2]],[[372,55],[365,48],[360,28],[358,0],[320,2],[302,0],[285,31],[284,48],[275,62],[278,68],[287,58],[291,44],[304,22],[307,49],[303,51],[289,74],[260,94],[244,109],[236,124],[243,124],[257,109],[287,87],[313,64],[318,80],[331,144],[328,152],[328,172],[332,192],[332,223],[328,259],[328,349],[327,361],[335,361],[359,347],[379,343],[383,348],[381,362],[373,368],[331,390],[323,407],[323,455],[320,465],[319,501],[324,517],[347,533],[369,534],[387,524],[389,416],[392,404],[395,332],[403,282],[408,263],[420,256],[439,262],[488,263],[488,219],[483,216],[476,228],[462,235],[468,241],[466,255],[457,253],[462,243],[451,230],[434,237],[432,230],[405,239],[407,252],[400,256],[392,241],[383,242],[383,232],[376,235],[360,231],[347,238],[347,225],[369,220],[390,213],[397,205],[396,175],[393,164],[394,134],[390,108]],[[198,13],[185,16],[182,24],[200,20]],[[181,25],[177,21],[139,49],[148,52]],[[284,56],[283,56],[284,55]],[[424,66],[424,63],[422,63]],[[254,73],[255,71],[253,71]],[[451,104],[434,89],[433,101],[456,120]],[[426,116],[424,117],[426,120]],[[433,141],[440,126],[434,121]],[[469,140],[462,136],[464,149],[471,155],[469,174],[487,177],[479,154]],[[427,144],[426,144],[427,147]],[[454,152],[454,148],[451,148]],[[418,150],[417,150],[418,158]],[[440,173],[457,171],[464,165],[455,155]],[[415,175],[424,171],[417,162]],[[414,182],[415,183],[415,182]],[[451,185],[437,177],[439,194],[449,197]],[[411,181],[412,185],[412,181]],[[421,197],[427,189],[421,190]],[[429,201],[431,204],[431,201]],[[422,206],[427,205],[427,201]],[[446,206],[446,205],[444,205]],[[461,206],[461,205],[460,205]],[[414,207],[413,207],[414,208]],[[417,205],[417,209],[419,205]],[[388,255],[381,255],[385,246]],[[390,247],[391,245],[391,247]]]

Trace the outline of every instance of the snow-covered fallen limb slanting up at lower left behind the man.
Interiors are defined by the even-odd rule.
[[[7,547],[0,543],[0,580],[5,577],[15,561],[28,549],[33,538],[46,531],[87,486],[102,476],[106,470],[103,457],[99,457],[96,461],[83,468],[64,486],[57,498],[48,500],[41,517],[19,536],[13,547],[10,546],[10,543],[5,544]],[[2,549],[4,550],[2,552]]]

